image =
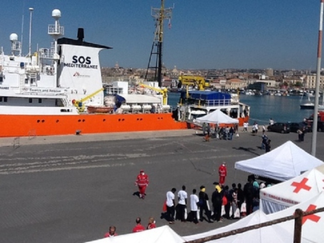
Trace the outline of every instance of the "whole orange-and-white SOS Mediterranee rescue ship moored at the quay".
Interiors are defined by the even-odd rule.
[[[23,56],[18,35],[13,33],[11,54],[2,50],[0,137],[187,129],[197,110],[208,113],[224,108],[225,103],[214,101],[181,103],[173,110],[167,103],[167,90],[152,87],[154,82],[135,91],[127,82],[103,87],[99,52],[111,48],[85,42],[83,29],[78,29],[77,39],[62,37],[61,12],[53,10],[52,17],[51,48],[31,53],[29,44],[29,53]],[[231,104],[226,105],[230,109]],[[233,108],[240,109],[237,104]],[[240,117],[240,112],[236,114]],[[248,114],[239,119],[242,124]]]

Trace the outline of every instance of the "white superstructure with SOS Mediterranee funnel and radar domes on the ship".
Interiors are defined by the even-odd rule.
[[[22,56],[21,42],[13,33],[11,54],[2,49],[0,114],[78,114],[73,102],[94,93],[85,104],[103,105],[99,51],[109,47],[84,42],[83,29],[77,40],[60,38],[64,34],[61,12],[53,10],[52,17],[51,48]]]

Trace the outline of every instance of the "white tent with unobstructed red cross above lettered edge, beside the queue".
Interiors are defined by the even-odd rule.
[[[271,214],[302,203],[324,191],[324,165],[291,180],[260,190],[260,209]]]

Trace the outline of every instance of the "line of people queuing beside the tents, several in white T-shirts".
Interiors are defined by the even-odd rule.
[[[254,176],[249,176],[248,182],[242,188],[240,183],[232,184],[229,186],[214,182],[215,191],[212,193],[211,198],[206,192],[204,185],[200,186],[198,195],[196,189],[192,190],[190,195],[190,213],[187,213],[187,192],[186,187],[178,192],[178,205],[175,209],[175,193],[176,188],[172,188],[167,192],[167,212],[165,218],[170,224],[175,223],[175,219],[182,222],[190,221],[197,224],[200,221],[214,221],[222,222],[223,218],[226,219],[239,219],[242,215],[249,215],[259,209],[259,190],[266,186],[265,183],[259,184]],[[270,184],[269,184],[270,185]],[[211,206],[210,203],[211,201]]]

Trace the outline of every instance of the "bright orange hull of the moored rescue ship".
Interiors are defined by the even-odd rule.
[[[171,113],[0,115],[0,137],[69,135],[187,129]]]

